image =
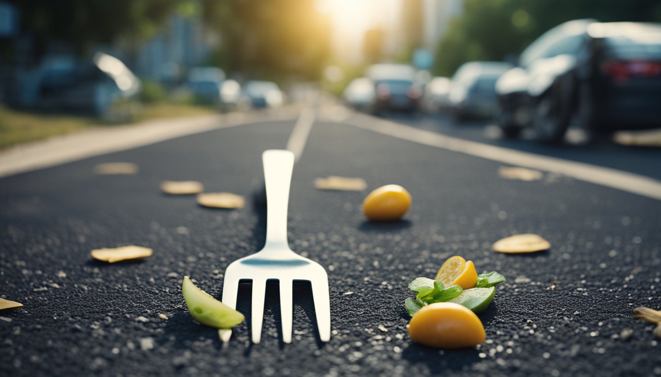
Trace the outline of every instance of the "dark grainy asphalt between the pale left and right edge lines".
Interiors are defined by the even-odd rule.
[[[351,117],[351,116],[350,116]],[[316,333],[309,286],[295,287],[293,343],[282,343],[277,286],[268,285],[262,343],[247,322],[223,347],[192,320],[184,275],[220,297],[231,261],[259,250],[265,208],[261,153],[284,148],[294,121],[190,135],[0,180],[0,370],[11,376],[654,376],[661,339],[631,318],[661,308],[661,202],[547,174],[504,180],[500,162],[418,145],[318,118],[297,162],[290,243],[327,268],[332,337]],[[658,154],[657,154],[658,156]],[[134,162],[139,174],[97,176],[101,162]],[[658,158],[656,166],[658,166]],[[317,191],[329,175],[401,184],[413,197],[403,221],[365,221],[365,192]],[[159,192],[162,180],[199,180],[249,199],[235,211],[198,207]],[[551,250],[496,254],[492,242],[541,234]],[[90,250],[153,248],[108,265]],[[498,286],[480,314],[487,340],[438,351],[412,343],[403,302],[408,281],[433,277],[459,254]],[[352,292],[351,294],[349,292]],[[165,314],[164,320],[159,314]],[[387,331],[383,331],[383,329]],[[623,339],[625,329],[631,337]]]

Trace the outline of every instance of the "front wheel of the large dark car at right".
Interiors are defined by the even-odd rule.
[[[559,143],[569,126],[569,111],[553,92],[545,94],[535,106],[533,129],[537,140],[543,143]]]

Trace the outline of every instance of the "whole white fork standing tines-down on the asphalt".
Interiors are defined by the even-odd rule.
[[[266,182],[266,244],[259,252],[233,261],[225,270],[223,303],[231,308],[236,308],[239,280],[253,281],[253,343],[259,343],[262,337],[267,280],[280,281],[284,343],[292,343],[292,285],[295,280],[312,283],[319,337],[321,341],[331,339],[331,302],[326,270],[319,263],[292,252],[287,242],[287,206],[293,161],[294,155],[290,151],[274,149],[262,154]],[[231,331],[226,331],[222,337],[223,341],[228,341]]]

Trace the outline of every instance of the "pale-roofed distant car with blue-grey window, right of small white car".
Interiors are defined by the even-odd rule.
[[[375,64],[368,67],[366,76],[375,85],[377,114],[385,110],[418,110],[422,88],[416,83],[416,71],[410,65]]]

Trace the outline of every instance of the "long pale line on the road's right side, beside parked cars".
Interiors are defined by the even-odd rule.
[[[661,181],[639,174],[467,141],[393,121],[377,120],[362,114],[357,114],[356,118],[344,123],[430,147],[470,154],[505,164],[555,172],[576,180],[661,200]]]

